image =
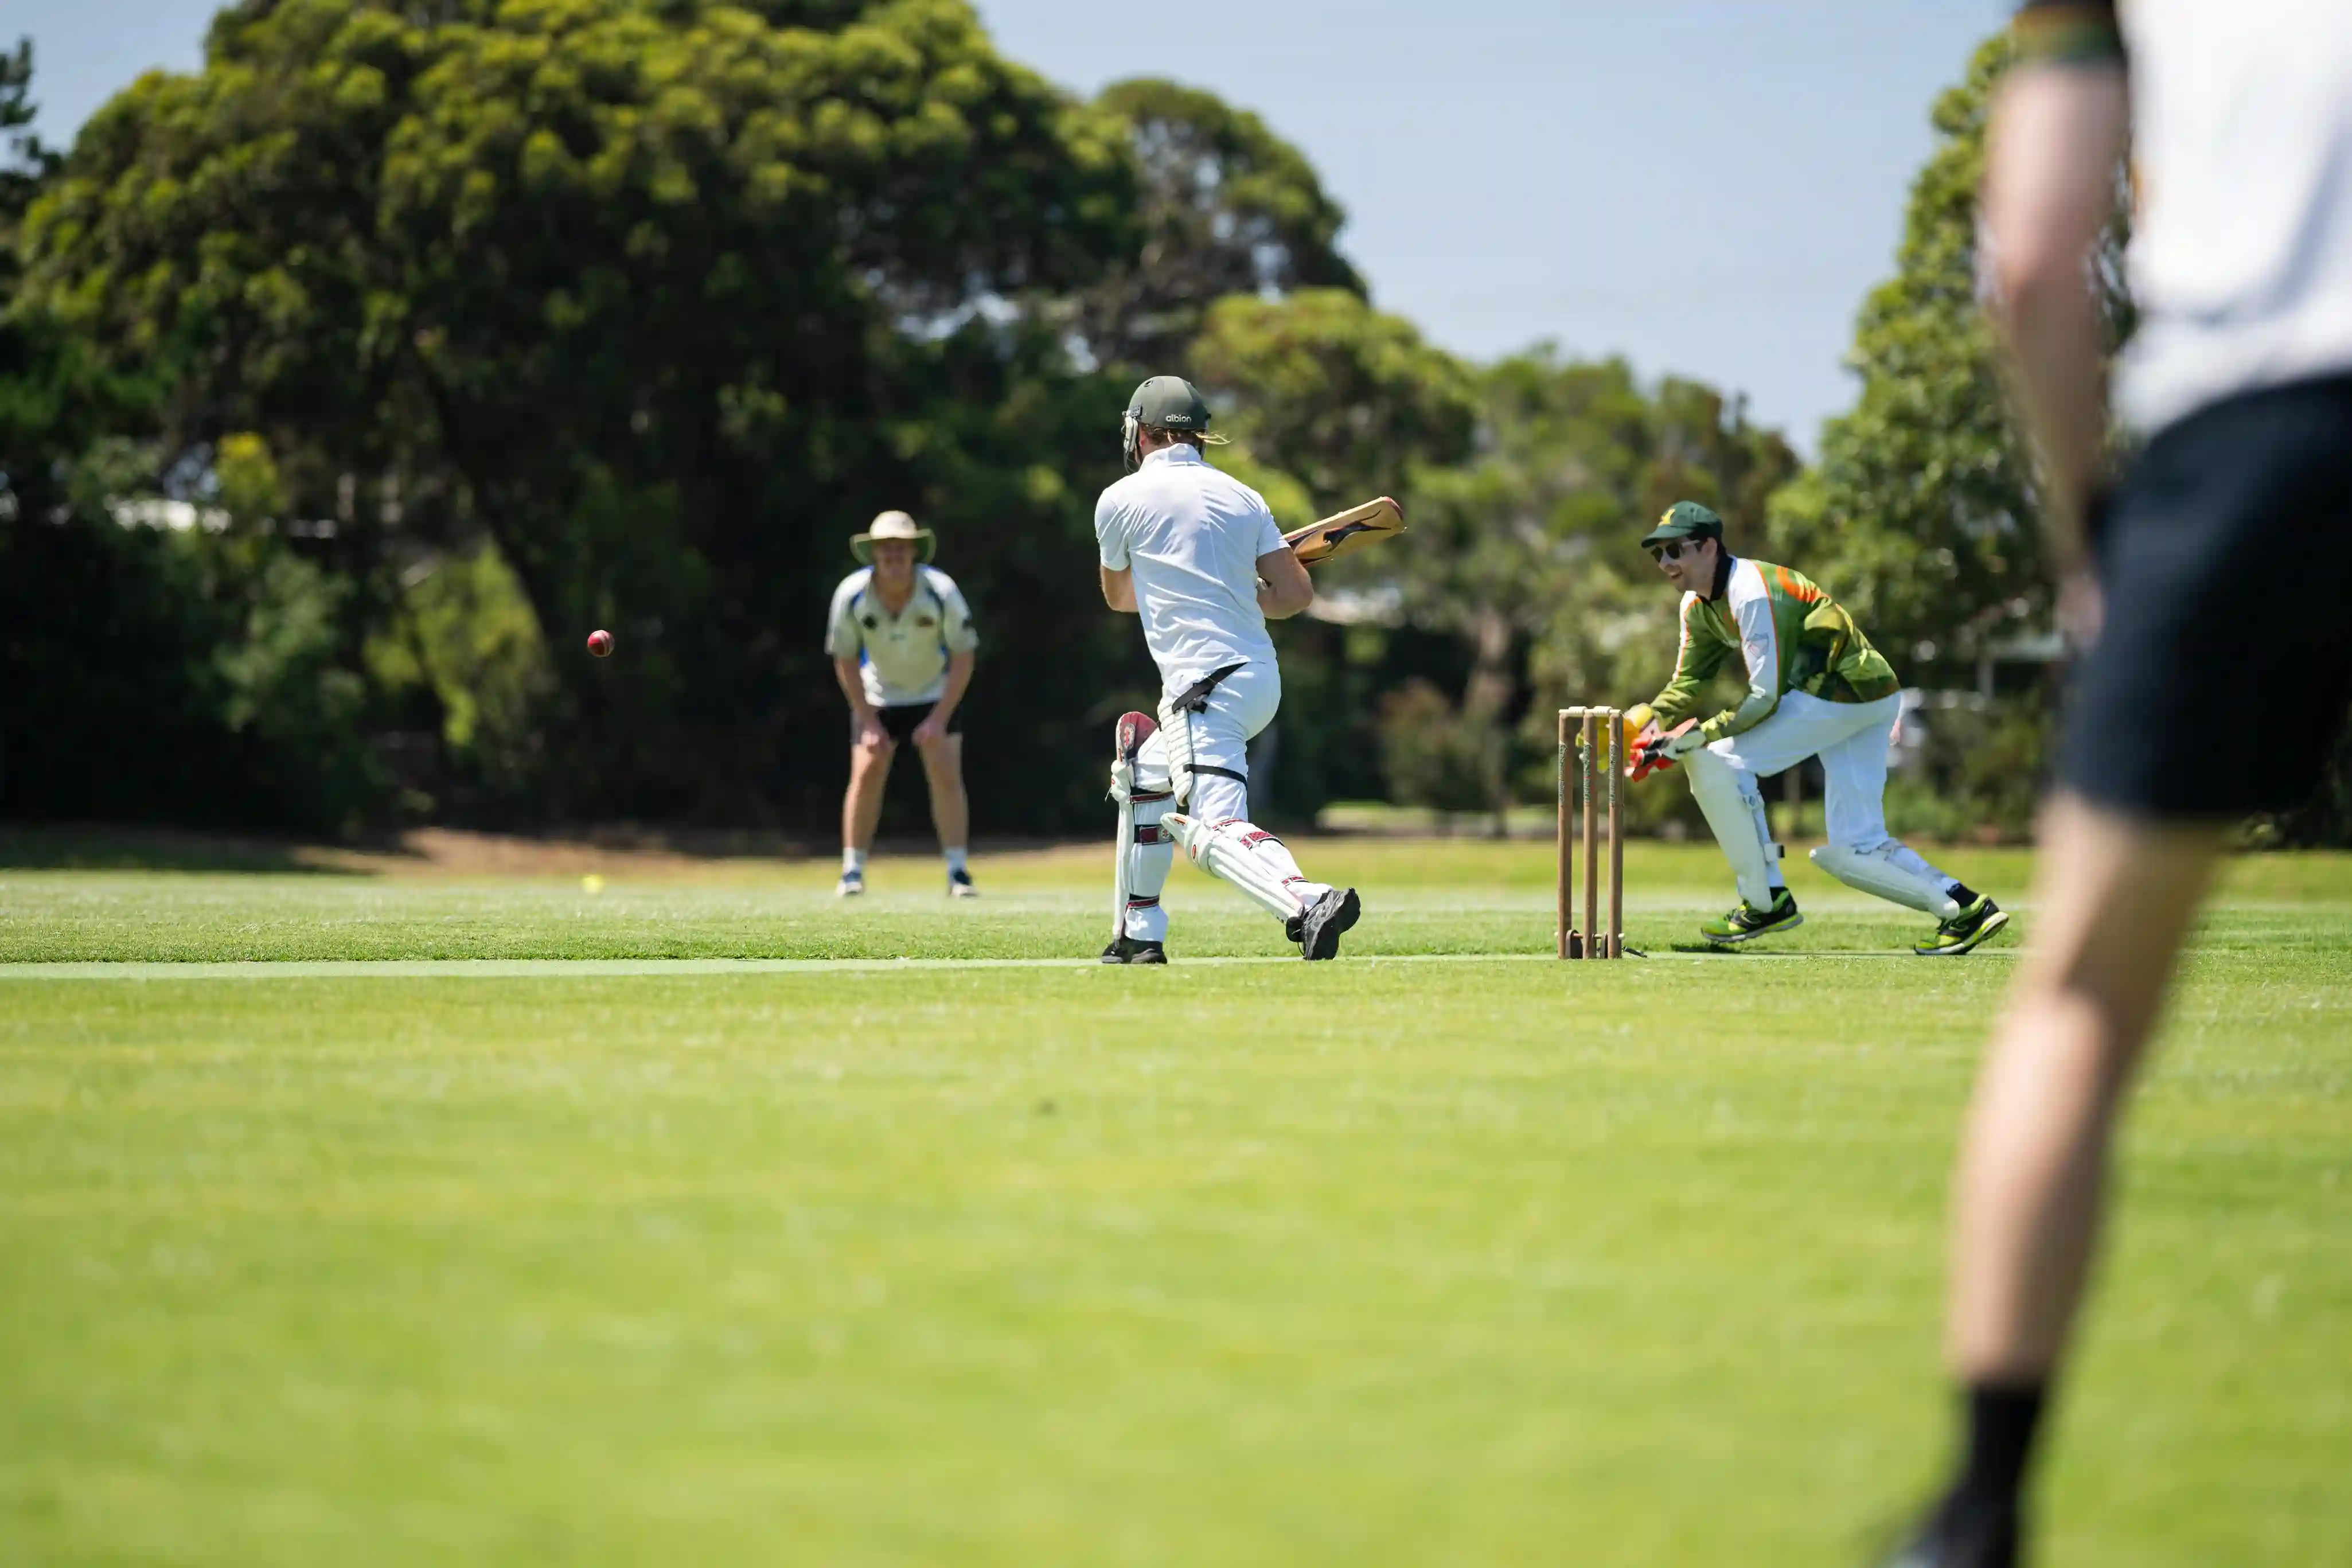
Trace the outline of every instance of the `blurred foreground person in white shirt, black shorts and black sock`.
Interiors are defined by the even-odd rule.
[[[1985,162],[1990,282],[2089,649],[2034,938],[1959,1157],[1947,1352],[1966,1441],[1889,1568],[2020,1561],[2117,1110],[2223,825],[2310,795],[2352,701],[2326,609],[2352,576],[2352,7],[2037,2],[2018,40]],[[2140,329],[2117,411],[2145,444],[2100,505],[2089,259],[2126,136]],[[2216,745],[2204,717],[2249,701],[2274,715],[2258,755]]]

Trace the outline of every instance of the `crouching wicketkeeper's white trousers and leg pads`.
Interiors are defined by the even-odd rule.
[[[1846,886],[1912,910],[1945,917],[1959,910],[1945,893],[1952,879],[1886,832],[1886,750],[1900,715],[1900,693],[1875,703],[1825,703],[1790,691],[1748,733],[1715,741],[1684,759],[1691,795],[1731,860],[1745,903],[1759,910],[1771,905],[1778,870],[1757,778],[1820,757],[1828,844],[1813,851],[1813,863]]]

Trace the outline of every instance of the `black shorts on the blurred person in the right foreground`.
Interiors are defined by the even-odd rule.
[[[2098,538],[2058,783],[2133,816],[2303,804],[2352,705],[2352,376],[2166,425]]]

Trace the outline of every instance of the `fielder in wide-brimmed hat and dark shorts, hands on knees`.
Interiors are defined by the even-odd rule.
[[[948,858],[948,896],[971,898],[964,837],[964,724],[957,705],[971,684],[981,646],[971,607],[946,571],[929,567],[931,529],[906,512],[882,512],[849,552],[868,562],[833,590],[826,651],[833,679],[849,698],[849,790],[842,795],[842,898],[866,891],[866,853],[882,820],[882,785],[906,741],[922,757],[931,785],[931,825]],[[922,557],[917,562],[917,555]]]

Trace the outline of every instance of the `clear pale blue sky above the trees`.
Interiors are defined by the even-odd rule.
[[[2009,0],[978,0],[1080,92],[1167,75],[1258,110],[1352,221],[1374,301],[1468,355],[1541,339],[1750,397],[1806,451],[1884,277],[1926,110]],[[5,0],[42,132],[200,59],[214,0]]]

